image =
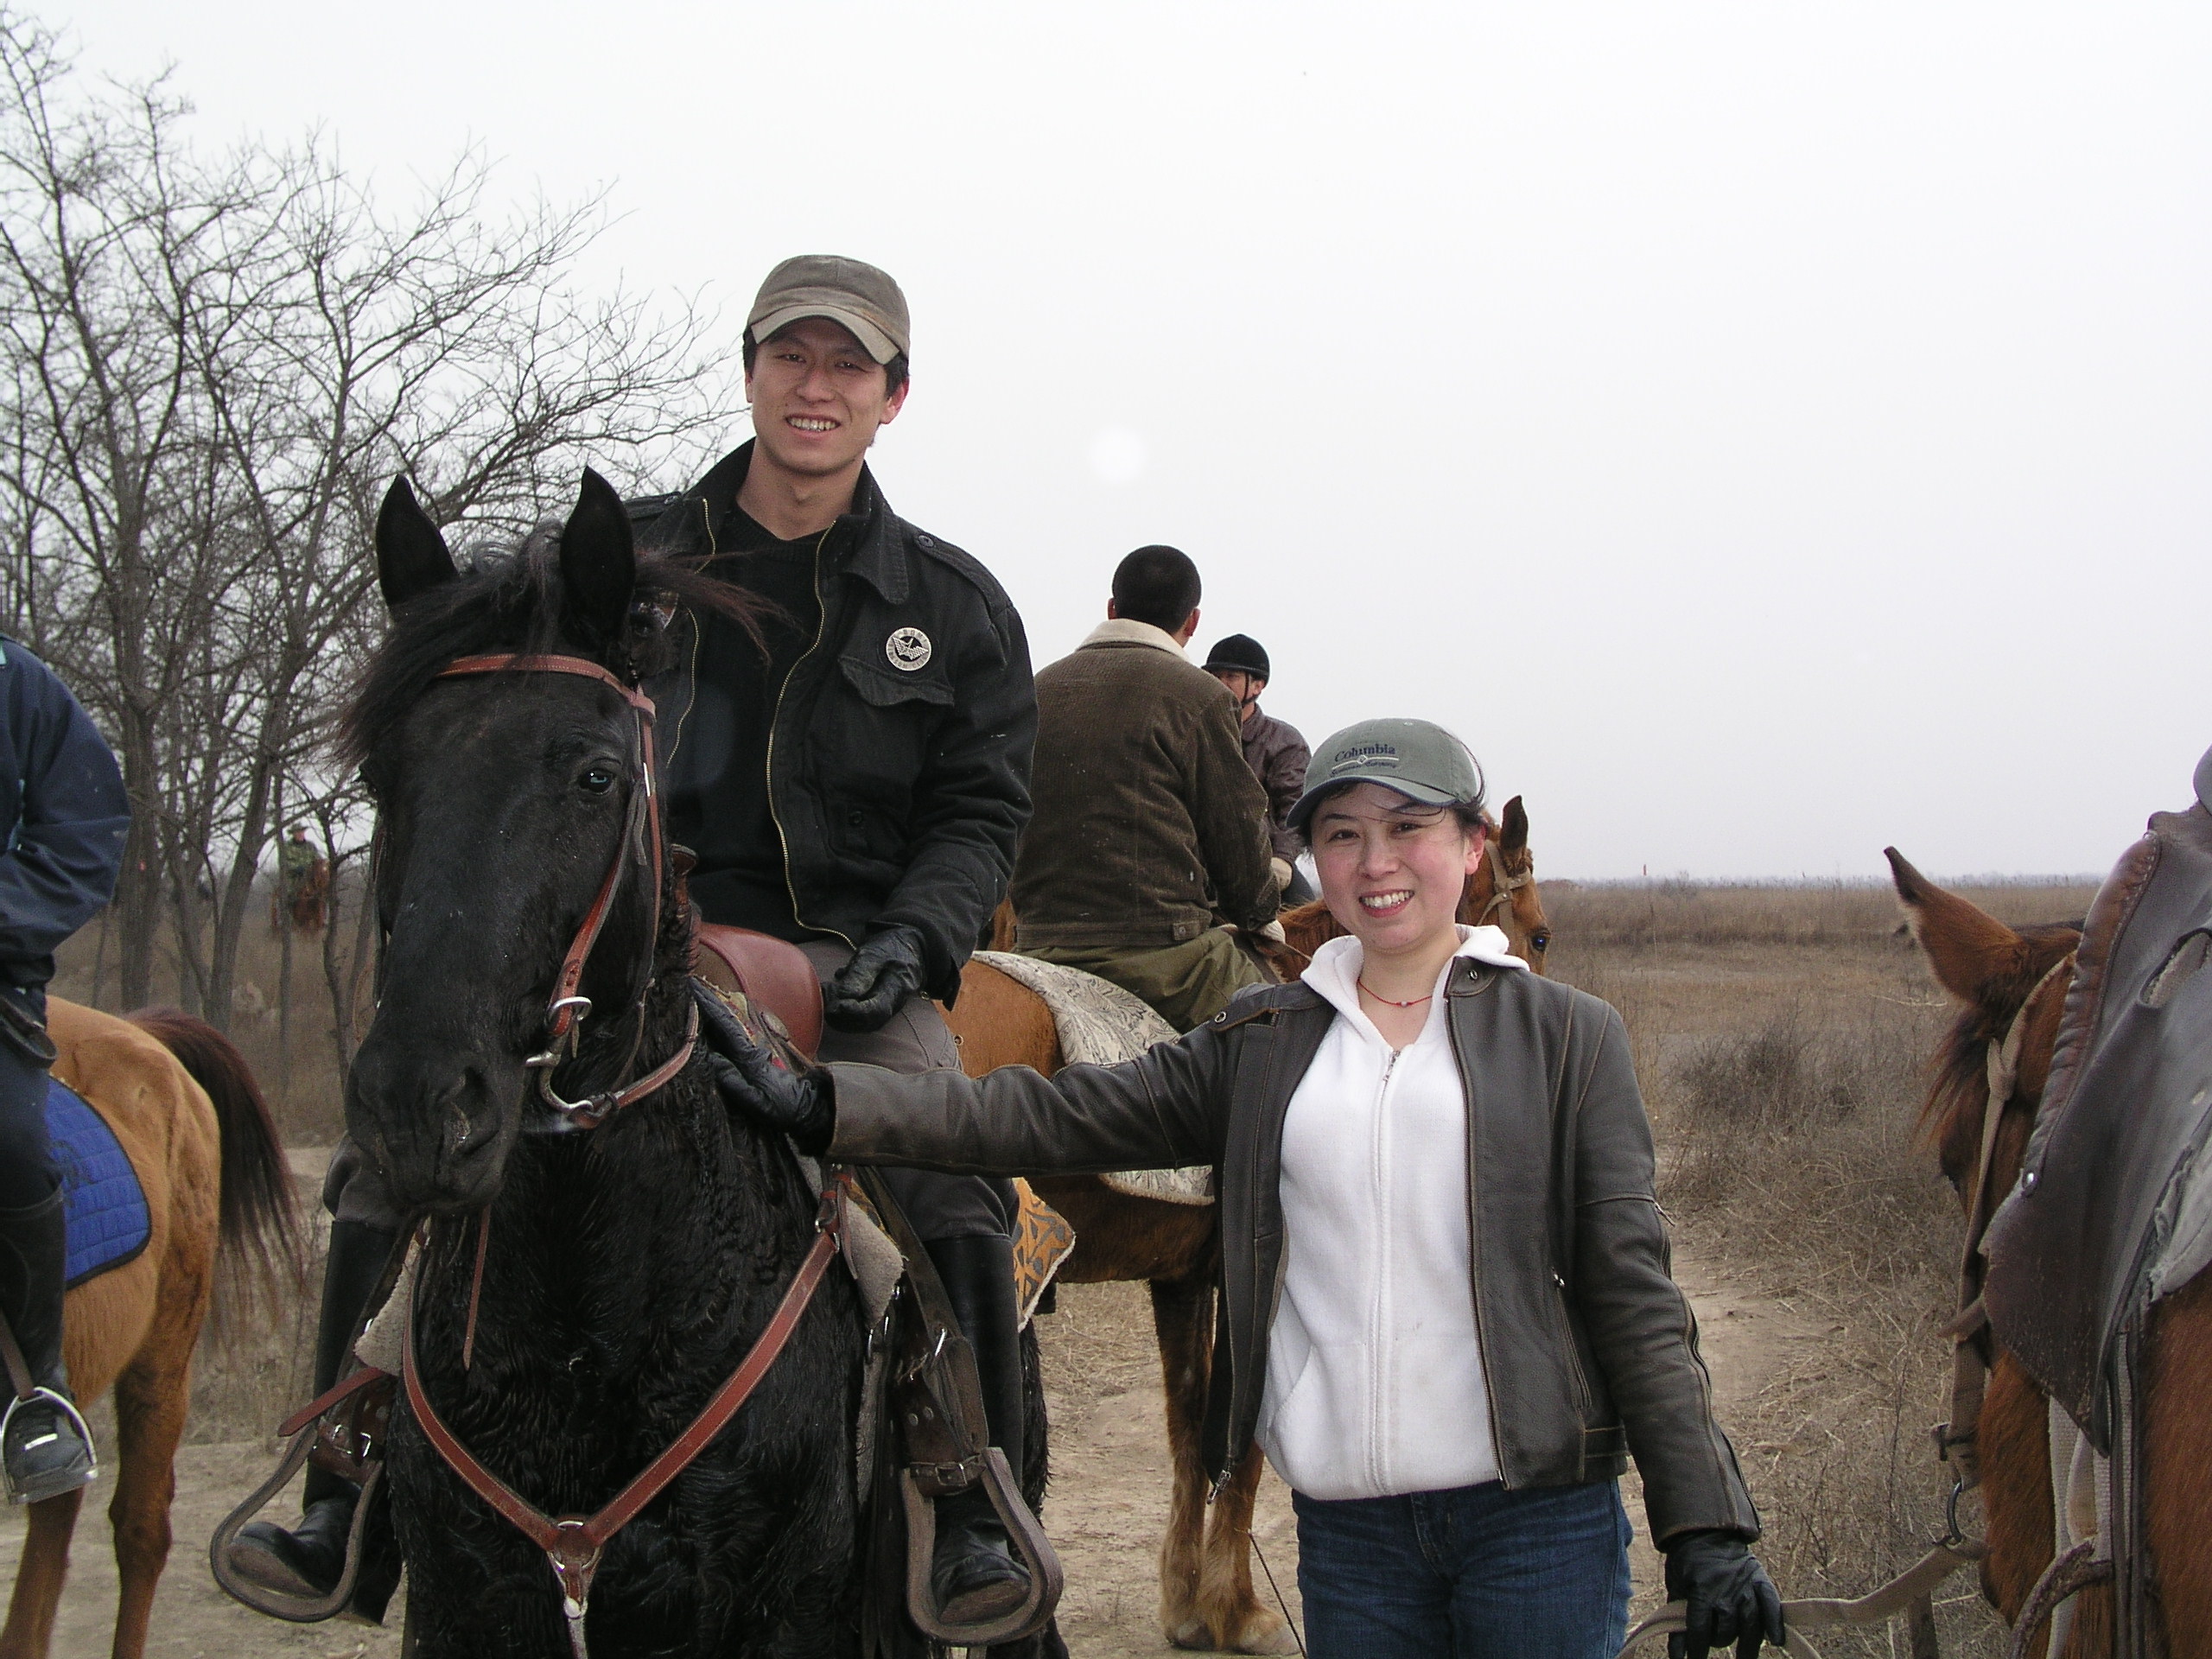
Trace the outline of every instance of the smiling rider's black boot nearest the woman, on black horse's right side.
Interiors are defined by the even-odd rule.
[[[1013,1241],[1004,1234],[938,1239],[929,1245],[960,1332],[975,1349],[991,1444],[1022,1480],[1022,1332],[1013,1305]],[[982,1484],[938,1500],[938,1548],[929,1571],[947,1624],[973,1626],[1013,1613],[1029,1597],[1029,1568]]]

